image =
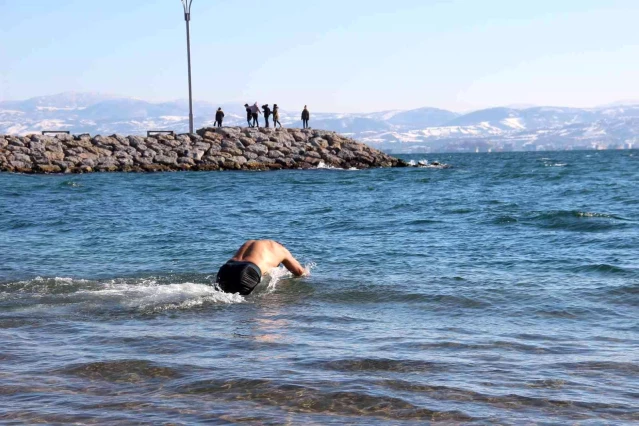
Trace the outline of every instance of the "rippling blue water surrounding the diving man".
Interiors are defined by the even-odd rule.
[[[639,152],[0,174],[0,421],[639,421]],[[210,286],[250,238],[312,269]]]

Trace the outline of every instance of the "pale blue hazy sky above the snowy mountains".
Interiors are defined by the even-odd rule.
[[[194,97],[366,112],[639,99],[639,0],[194,0]],[[0,100],[185,98],[179,0],[0,0]]]

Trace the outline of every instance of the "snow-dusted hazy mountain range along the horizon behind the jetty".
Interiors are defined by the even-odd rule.
[[[241,104],[195,102],[197,128],[211,126],[221,106],[225,125],[245,125]],[[285,127],[299,111],[281,110]],[[639,102],[599,108],[501,107],[459,114],[438,108],[375,113],[315,113],[314,128],[347,134],[388,152],[514,151],[639,147]],[[144,134],[188,130],[188,101],[153,103],[98,93],[62,93],[0,102],[0,134],[70,130]]]

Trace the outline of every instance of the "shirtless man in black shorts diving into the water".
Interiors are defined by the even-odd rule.
[[[217,273],[217,285],[226,293],[250,294],[271,269],[284,264],[296,277],[306,270],[280,243],[271,240],[249,240]]]

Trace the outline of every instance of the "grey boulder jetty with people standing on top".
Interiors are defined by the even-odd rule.
[[[204,128],[141,136],[0,135],[0,171],[17,173],[405,167],[398,158],[335,132]]]

